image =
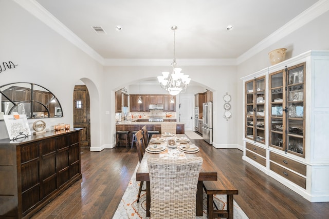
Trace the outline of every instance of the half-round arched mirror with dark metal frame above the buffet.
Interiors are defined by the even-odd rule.
[[[5,115],[17,112],[27,118],[63,116],[56,96],[40,85],[24,82],[7,84],[0,86],[0,94],[1,112]]]

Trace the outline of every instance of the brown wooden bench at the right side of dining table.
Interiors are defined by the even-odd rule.
[[[221,177],[222,176],[222,177]],[[207,194],[207,214],[208,218],[225,217],[233,219],[233,195],[238,194],[238,190],[220,172],[217,173],[217,181],[203,181],[203,187]],[[220,210],[213,202],[213,195],[226,194],[226,210]]]

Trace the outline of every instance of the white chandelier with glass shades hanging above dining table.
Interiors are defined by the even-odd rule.
[[[174,31],[174,61],[171,64],[173,67],[172,73],[162,72],[162,76],[158,76],[158,81],[160,86],[167,90],[171,95],[177,95],[178,93],[184,93],[188,84],[191,81],[189,75],[184,74],[181,71],[181,68],[176,68],[176,58],[175,58],[175,30],[177,26],[172,26],[171,29]]]

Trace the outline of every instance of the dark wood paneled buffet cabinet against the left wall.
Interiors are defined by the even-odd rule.
[[[80,130],[0,140],[0,218],[29,218],[82,178]]]

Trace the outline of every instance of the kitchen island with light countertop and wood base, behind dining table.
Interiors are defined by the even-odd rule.
[[[132,141],[132,131],[139,131],[143,126],[147,127],[148,131],[159,131],[161,133],[162,123],[175,123],[176,124],[176,134],[185,134],[184,123],[176,122],[176,118],[165,118],[163,122],[149,122],[147,118],[137,118],[135,120],[124,120],[116,124],[116,131],[130,131],[129,141]]]

